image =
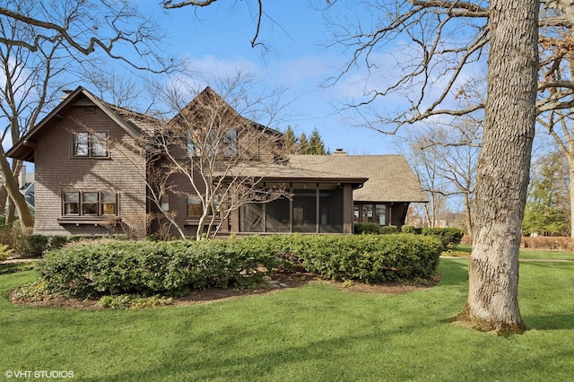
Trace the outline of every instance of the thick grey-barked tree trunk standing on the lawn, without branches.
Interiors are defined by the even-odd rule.
[[[535,0],[492,0],[488,100],[476,184],[474,248],[466,305],[457,319],[520,333],[518,250],[535,135],[538,68]]]

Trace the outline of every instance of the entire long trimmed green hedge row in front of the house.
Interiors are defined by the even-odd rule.
[[[173,294],[210,286],[248,287],[276,267],[367,283],[428,279],[442,245],[432,237],[274,235],[205,241],[80,244],[38,262],[48,291],[77,297]]]

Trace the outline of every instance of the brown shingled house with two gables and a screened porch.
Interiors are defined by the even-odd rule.
[[[265,203],[240,204],[226,216],[208,209],[222,234],[351,233],[353,221],[400,226],[409,203],[426,201],[401,156],[283,155],[280,132],[239,116],[211,88],[170,120],[169,137],[181,138],[178,129],[190,119],[204,120],[202,105],[215,104],[218,107],[211,110],[227,116],[229,127],[223,135],[199,131],[204,127],[187,129],[186,144],[166,143],[165,151],[158,154],[161,143],[151,144],[143,137],[160,136],[160,121],[110,105],[82,87],[70,92],[6,152],[35,164],[34,232],[143,237],[161,229],[161,224],[150,223],[150,216],[160,216],[157,221],[161,221],[163,213],[182,233],[195,235],[205,208],[198,193],[209,190],[213,182],[231,182],[238,176],[257,179],[253,183],[262,190],[282,187],[285,195]],[[199,150],[202,137],[228,144],[221,149],[215,141],[204,141]],[[169,185],[161,186],[160,199],[152,197],[152,174],[155,169],[167,169],[168,158],[193,162],[204,154],[208,160],[225,156],[235,161],[225,171],[214,172],[201,187],[172,174]],[[196,171],[192,177],[201,175]],[[225,195],[218,203],[230,204],[232,199]]]

